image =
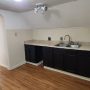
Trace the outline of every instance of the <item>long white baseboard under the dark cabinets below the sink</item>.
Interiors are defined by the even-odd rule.
[[[62,71],[62,70],[57,70],[57,69],[50,68],[50,67],[47,67],[47,66],[44,66],[44,68],[55,71],[55,72],[63,73],[63,74],[69,75],[69,76],[73,76],[73,77],[76,77],[76,78],[79,78],[79,79],[82,79],[82,80],[90,81],[90,78],[88,78],[88,77],[80,76],[80,75],[69,73],[69,72]]]

